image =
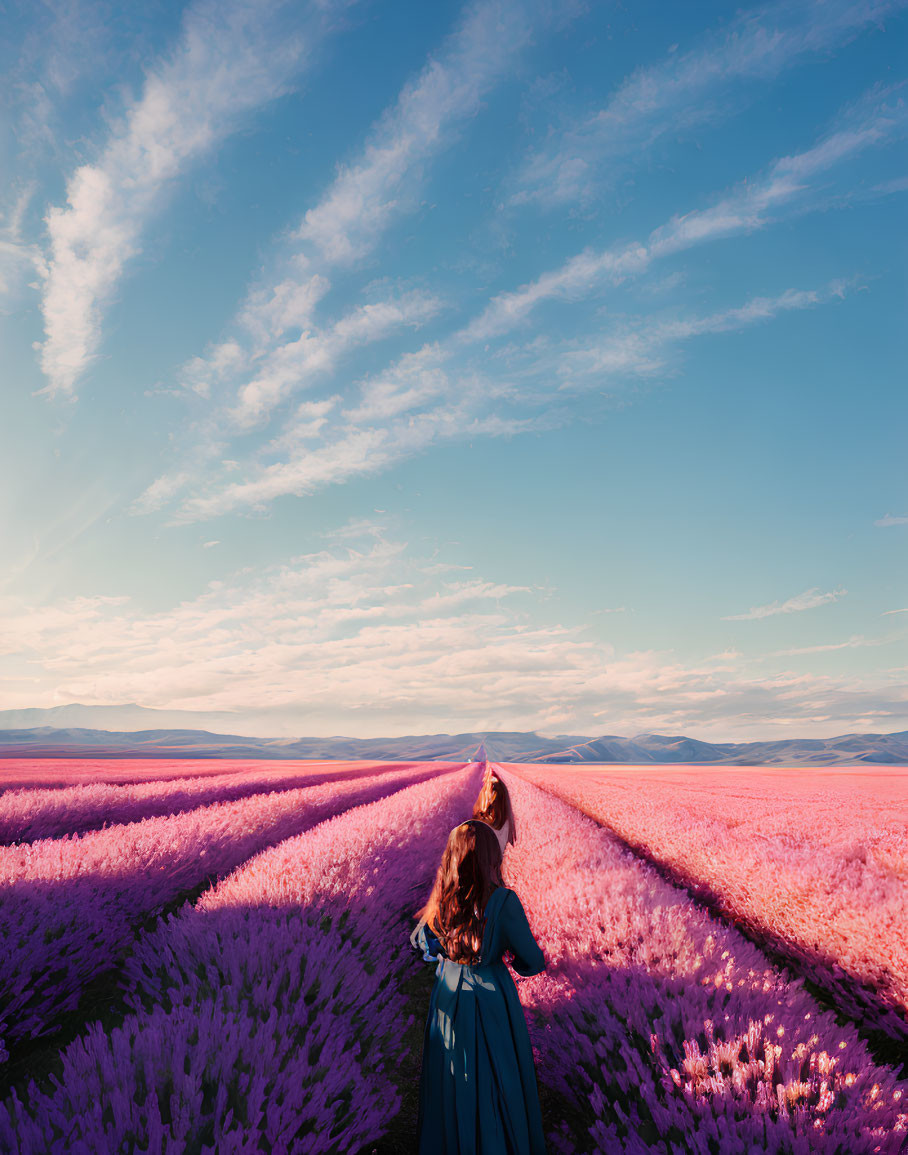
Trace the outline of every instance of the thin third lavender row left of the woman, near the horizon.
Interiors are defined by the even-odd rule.
[[[453,766],[454,763],[438,763]],[[330,768],[290,765],[280,770],[267,763],[229,774],[179,777],[164,782],[112,785],[96,782],[61,789],[8,790],[0,795],[0,843],[57,839],[64,834],[98,830],[104,826],[139,822],[162,814],[178,814],[216,802],[236,802],[273,790],[295,790],[378,774],[384,767]]]

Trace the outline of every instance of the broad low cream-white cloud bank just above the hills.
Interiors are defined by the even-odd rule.
[[[347,531],[343,531],[347,530]],[[446,581],[366,523],[334,549],[209,582],[156,612],[128,597],[45,605],[0,598],[0,677],[28,662],[8,705],[136,701],[230,710],[258,733],[544,729],[753,738],[908,716],[903,677],[754,676],[739,655],[619,655],[578,627],[534,624],[545,591]]]

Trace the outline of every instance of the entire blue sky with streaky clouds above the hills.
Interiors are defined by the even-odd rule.
[[[908,728],[905,0],[3,20],[0,708]]]

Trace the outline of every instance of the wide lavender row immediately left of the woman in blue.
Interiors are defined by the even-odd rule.
[[[50,1091],[0,1104],[0,1149],[350,1153],[400,1109],[408,916],[481,784],[408,787],[259,855],[147,934],[135,1008]]]

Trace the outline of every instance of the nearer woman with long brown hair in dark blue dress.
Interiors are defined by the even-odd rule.
[[[545,960],[520,899],[501,882],[488,822],[448,835],[425,925],[438,961],[419,1082],[419,1155],[544,1155],[536,1068],[523,1008],[503,961],[538,975]]]

